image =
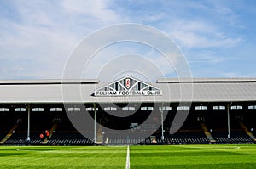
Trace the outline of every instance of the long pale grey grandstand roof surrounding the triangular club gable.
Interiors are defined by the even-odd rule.
[[[0,81],[0,103],[256,101],[256,78],[158,79],[147,84],[160,89],[161,95],[94,95],[96,89],[109,83],[99,80]]]

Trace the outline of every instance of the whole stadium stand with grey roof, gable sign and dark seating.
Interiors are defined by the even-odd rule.
[[[256,139],[256,78],[0,81],[0,104],[1,144],[227,144]],[[45,130],[49,138],[39,138]]]

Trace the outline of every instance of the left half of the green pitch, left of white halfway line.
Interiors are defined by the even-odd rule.
[[[125,147],[0,147],[0,168],[125,168]]]

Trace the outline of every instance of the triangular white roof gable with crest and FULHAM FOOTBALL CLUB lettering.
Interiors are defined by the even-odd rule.
[[[131,76],[125,76],[115,82],[98,88],[95,96],[156,96],[162,95],[162,90],[153,87]]]

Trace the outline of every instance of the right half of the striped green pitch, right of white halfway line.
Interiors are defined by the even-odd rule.
[[[142,146],[130,151],[131,168],[256,168],[256,144]]]

